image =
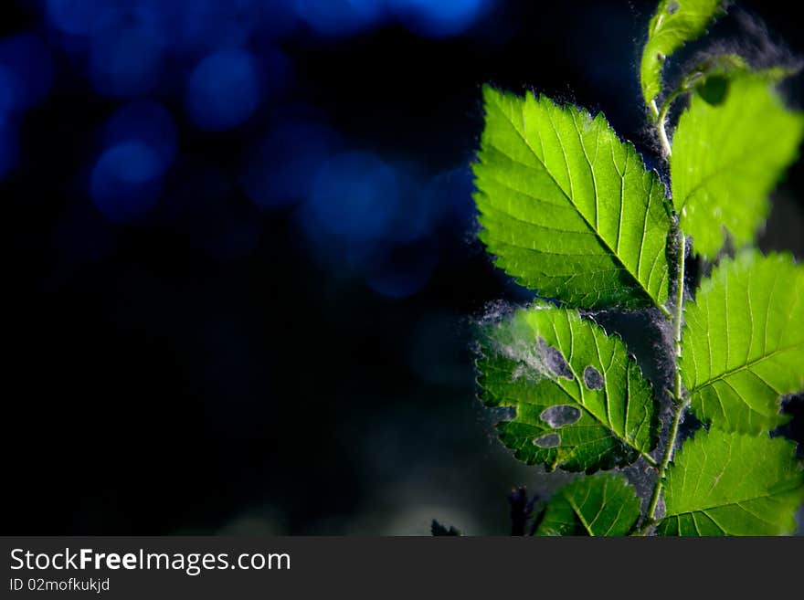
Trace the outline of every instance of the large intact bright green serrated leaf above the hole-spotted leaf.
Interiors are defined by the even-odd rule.
[[[483,97],[474,197],[496,264],[570,306],[661,306],[670,217],[633,146],[601,114],[488,86]]]

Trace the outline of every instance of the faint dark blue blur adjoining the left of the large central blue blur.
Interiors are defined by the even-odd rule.
[[[338,135],[319,122],[285,122],[251,150],[240,183],[263,210],[294,205],[310,195],[316,169],[338,145]]]

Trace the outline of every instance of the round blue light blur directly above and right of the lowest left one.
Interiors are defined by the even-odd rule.
[[[185,105],[192,121],[223,131],[247,121],[259,103],[259,73],[244,49],[219,50],[196,66],[187,84]]]

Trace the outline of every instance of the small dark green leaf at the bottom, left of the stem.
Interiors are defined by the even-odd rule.
[[[626,535],[640,518],[640,499],[622,475],[576,479],[547,503],[536,535]]]

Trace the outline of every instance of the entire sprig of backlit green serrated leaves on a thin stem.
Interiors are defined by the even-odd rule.
[[[498,427],[516,458],[587,474],[547,503],[537,535],[796,528],[804,475],[795,446],[772,434],[786,422],[782,398],[804,387],[804,268],[755,245],[804,115],[779,95],[783,69],[735,55],[707,59],[676,89],[661,79],[724,14],[717,0],[662,0],[651,19],[640,80],[669,187],[602,114],[483,88],[480,237],[539,300],[483,326],[480,397],[513,409]],[[685,105],[671,136],[675,101]],[[693,258],[712,274],[687,289]],[[666,395],[592,316],[636,310],[672,331]],[[704,426],[678,448],[688,410]],[[655,473],[644,501],[613,470],[639,460]]]

